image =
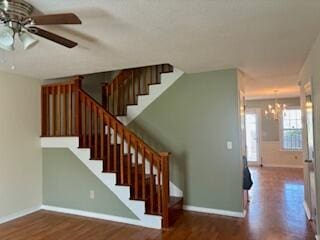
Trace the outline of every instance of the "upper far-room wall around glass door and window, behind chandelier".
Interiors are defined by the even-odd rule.
[[[281,98],[278,100],[280,104],[286,104],[291,107],[300,107],[300,98]],[[264,110],[268,108],[268,105],[274,105],[274,99],[263,99],[263,100],[247,100],[246,108],[259,108],[261,109],[261,130],[262,130],[262,141],[273,142],[280,141],[279,138],[279,121],[266,118]]]

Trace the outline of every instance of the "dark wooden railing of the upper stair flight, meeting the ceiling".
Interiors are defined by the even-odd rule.
[[[102,105],[114,116],[127,115],[128,105],[137,105],[138,96],[149,94],[149,85],[161,84],[161,74],[173,72],[170,64],[125,69],[102,85]]]

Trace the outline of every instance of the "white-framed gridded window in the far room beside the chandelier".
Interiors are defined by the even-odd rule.
[[[301,110],[298,108],[282,111],[282,148],[284,150],[302,149]]]

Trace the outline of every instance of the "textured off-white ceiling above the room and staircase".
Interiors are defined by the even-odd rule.
[[[292,87],[320,31],[318,0],[30,0],[43,13],[74,12],[80,26],[47,27],[72,40],[0,52],[0,69],[39,79],[171,63],[185,72],[239,67],[248,94]],[[272,91],[272,90],[271,90]]]

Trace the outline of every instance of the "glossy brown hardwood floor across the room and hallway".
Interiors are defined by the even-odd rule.
[[[301,169],[252,168],[245,219],[184,212],[169,231],[39,211],[0,225],[1,240],[309,240]]]

